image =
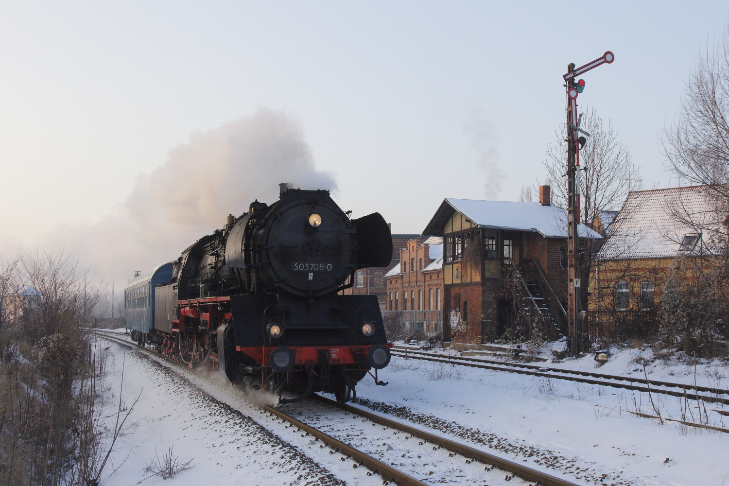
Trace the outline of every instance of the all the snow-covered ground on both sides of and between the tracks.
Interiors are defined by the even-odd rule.
[[[285,423],[260,412],[236,393],[225,393],[190,378],[203,393],[137,351],[110,345],[109,352],[112,391],[119,393],[124,361],[122,394],[128,402],[140,393],[141,398],[130,416],[131,426],[112,454],[113,466],[107,467],[103,485],[160,484],[163,480],[149,477],[144,468],[155,457],[155,450],[162,457],[170,447],[180,458],[192,458],[193,467],[167,479],[165,485],[381,485],[380,477],[368,477],[363,467],[354,468],[354,461],[330,454],[311,437],[286,428]],[[636,356],[646,353],[650,350],[629,350],[624,356],[617,353],[599,371],[631,372],[637,369]],[[651,377],[676,381],[674,377],[684,375],[693,383],[694,367],[669,366],[660,360],[654,364],[648,367]],[[592,356],[549,366],[561,365],[596,367]],[[712,385],[723,385],[725,372],[719,362],[698,366],[697,382],[709,384],[701,383],[701,377],[709,380],[713,374],[718,382]],[[698,417],[699,413],[695,402],[405,358],[393,358],[380,378],[389,385],[377,386],[370,377],[358,385],[358,406],[433,428],[555,476],[565,474],[578,484],[729,485],[729,462],[725,459],[729,434],[671,422],[660,425],[657,420],[630,413],[655,415],[658,409],[663,417],[683,415],[692,420],[691,415]],[[286,411],[295,407],[287,405]],[[707,407],[710,421],[725,426],[722,416],[712,408],[721,407]],[[305,404],[301,404],[301,413],[308,413]],[[316,420],[313,425],[328,428],[332,435],[351,432],[338,415]],[[378,435],[381,433],[378,428],[377,434],[354,435],[362,442],[359,445],[375,451],[387,443],[396,450],[405,447],[403,453],[410,453],[404,439],[385,441]],[[421,459],[425,463],[432,458]],[[453,466],[460,467],[462,462],[462,458],[453,458]],[[119,469],[108,476],[117,466]],[[476,469],[469,469],[467,474],[469,482],[477,479]],[[427,482],[435,478],[418,479]],[[486,473],[483,481],[500,482]],[[458,482],[456,477],[451,479],[452,484]]]

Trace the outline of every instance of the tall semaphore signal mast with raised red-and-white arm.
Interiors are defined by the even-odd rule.
[[[585,81],[575,78],[582,73],[590,71],[601,64],[609,64],[615,60],[615,55],[607,51],[601,58],[593,60],[591,63],[585,64],[579,68],[574,68],[574,64],[567,66],[567,74],[563,76],[567,94],[567,298],[569,319],[569,354],[572,356],[580,353],[582,348],[582,335],[584,329],[582,319],[580,319],[580,289],[582,282],[580,281],[580,273],[577,267],[582,265],[580,257],[580,171],[586,171],[587,168],[580,168],[580,148],[585,145],[587,139],[580,136],[590,136],[580,128],[580,117],[577,116],[577,95],[582,93],[585,88]],[[587,282],[585,282],[586,284]]]

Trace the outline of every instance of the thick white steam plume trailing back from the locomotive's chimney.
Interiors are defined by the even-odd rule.
[[[299,125],[261,109],[193,133],[162,166],[137,176],[120,213],[91,226],[58,227],[44,246],[72,251],[105,281],[125,283],[135,270],[176,259],[221,228],[228,213],[240,215],[255,199],[273,203],[280,182],[336,188],[330,174],[316,171]]]

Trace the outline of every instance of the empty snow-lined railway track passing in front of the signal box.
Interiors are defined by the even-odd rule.
[[[671,383],[660,380],[645,380],[644,378],[625,377],[619,375],[606,375],[604,373],[587,372],[580,370],[540,367],[534,364],[510,363],[493,359],[469,358],[466,356],[443,356],[436,353],[410,350],[408,348],[394,347],[390,350],[392,356],[401,358],[414,358],[424,361],[434,361],[445,364],[458,364],[466,367],[492,369],[521,375],[534,375],[539,377],[556,378],[558,380],[571,380],[590,385],[611,386],[626,390],[643,391],[646,393],[663,393],[678,396],[689,400],[703,400],[710,403],[729,405],[729,390],[712,388],[701,385],[688,385],[685,383]],[[627,382],[627,383],[625,383]],[[700,393],[713,393],[712,395]]]

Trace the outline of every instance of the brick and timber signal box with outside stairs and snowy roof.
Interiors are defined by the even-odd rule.
[[[445,199],[427,225],[425,235],[444,239],[443,340],[454,348],[480,348],[507,330],[566,333],[566,214],[550,204],[548,186],[539,195]],[[580,237],[602,239],[584,224]]]

